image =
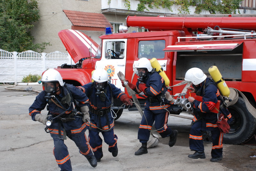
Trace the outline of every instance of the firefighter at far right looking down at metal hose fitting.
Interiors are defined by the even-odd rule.
[[[211,131],[212,133],[212,158],[210,161],[217,162],[222,159],[222,139],[223,132],[220,131],[217,122],[217,113],[212,112],[218,100],[220,100],[220,112],[225,115],[228,123],[232,121],[231,114],[224,107],[220,92],[215,82],[207,78],[204,72],[199,68],[191,68],[185,74],[185,80],[193,83],[193,88],[188,87],[192,93],[202,96],[202,101],[195,100],[194,97],[188,97],[188,101],[194,103],[194,118],[189,134],[189,147],[194,154],[188,155],[192,159],[205,159],[202,131]]]

